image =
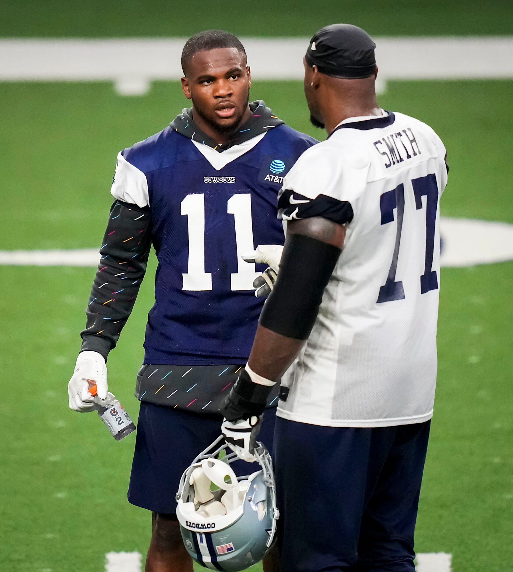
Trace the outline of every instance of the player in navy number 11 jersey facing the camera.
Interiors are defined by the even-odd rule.
[[[240,41],[209,30],[182,53],[182,89],[192,100],[160,133],[118,154],[114,202],[86,309],[82,347],[68,386],[75,411],[92,411],[90,382],[108,396],[106,360],[144,277],[150,246],[158,267],[148,315],[129,502],[151,510],[146,571],[192,571],[174,495],[182,471],[219,435],[220,404],[248,360],[263,302],[253,281],[265,265],[241,256],[283,244],[276,200],[283,177],[316,143],[249,102],[250,69]],[[272,450],[277,391],[261,440]],[[248,469],[244,469],[247,474]],[[216,555],[204,557],[216,568]],[[264,569],[276,566],[271,559]]]

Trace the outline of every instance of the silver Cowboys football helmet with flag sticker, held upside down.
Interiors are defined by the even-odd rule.
[[[238,457],[221,435],[182,475],[176,515],[186,550],[205,568],[245,570],[271,549],[279,518],[272,460],[260,442],[254,455],[260,470],[237,478],[230,463]]]

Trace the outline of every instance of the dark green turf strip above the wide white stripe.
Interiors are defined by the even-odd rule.
[[[312,36],[333,22],[375,35],[511,34],[509,0],[5,0],[0,37],[186,36],[220,28],[253,36]]]

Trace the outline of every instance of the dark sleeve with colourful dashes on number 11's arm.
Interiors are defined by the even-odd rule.
[[[116,347],[144,278],[151,245],[149,206],[114,201],[86,308],[86,328],[80,333],[81,352],[95,351],[106,360]]]

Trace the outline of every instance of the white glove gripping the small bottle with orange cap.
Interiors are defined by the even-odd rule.
[[[81,413],[94,411],[94,398],[89,393],[89,387],[95,383],[98,399],[107,399],[107,366],[103,356],[98,352],[81,352],[78,354],[73,376],[67,384],[70,409]]]

